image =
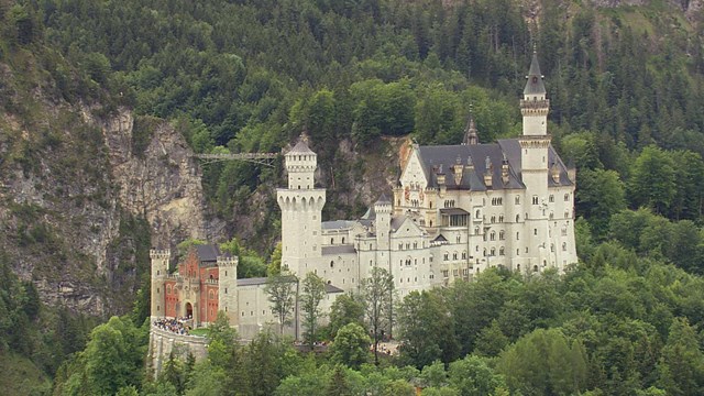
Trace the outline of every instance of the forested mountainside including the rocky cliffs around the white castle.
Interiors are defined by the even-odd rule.
[[[563,279],[490,274],[492,290],[501,293],[474,299],[482,304],[466,297],[487,287],[481,282],[417,296],[436,309],[457,293],[468,306],[447,309],[485,311],[473,316],[476,322],[448,324],[451,337],[408,332],[455,344],[407,352],[398,364],[420,369],[474,353],[463,364],[495,371],[482,380],[491,389],[697,393],[692,389],[702,389],[704,375],[704,315],[693,297],[704,273],[703,8],[698,1],[601,3],[0,0],[0,329],[8,334],[0,353],[29,356],[52,377],[88,340],[92,322],[76,311],[124,314],[141,296],[131,323],[105,326],[141,324],[150,244],[237,237],[252,261],[270,256],[280,229],[273,194],[280,164],[197,164],[193,152],[280,152],[306,132],[329,191],[323,215],[359,216],[393,186],[399,146],[409,139],[458,143],[470,108],[482,142],[519,134],[517,102],[535,48],[553,145],[578,167],[584,264]],[[624,300],[637,292],[644,295]],[[508,322],[514,317],[521,322]],[[70,341],[57,336],[64,332]],[[675,344],[673,332],[684,344]],[[546,345],[546,337],[566,346]],[[257,353],[273,342],[264,341],[261,351],[232,359],[263,359]],[[530,351],[527,343],[566,348],[588,374],[563,373],[572,375],[569,384],[557,374],[529,378],[512,365],[534,359],[521,355]],[[101,356],[92,348],[62,369],[61,384],[97,375],[81,371],[90,353]],[[670,366],[683,349],[696,351],[691,364]],[[277,364],[277,377],[262,393],[289,374],[282,386],[310,382],[305,370],[319,365],[299,363],[266,363]],[[453,384],[462,377],[457,367],[446,377],[436,366],[424,381]],[[330,386],[346,381],[358,388],[366,386],[360,375],[376,378],[378,389],[418,377],[319,370],[338,381]],[[693,373],[691,387],[673,385],[682,373]],[[148,394],[157,386],[135,375],[113,391],[134,385]],[[256,383],[252,378],[238,381]],[[178,381],[172,385],[184,391],[187,381]]]

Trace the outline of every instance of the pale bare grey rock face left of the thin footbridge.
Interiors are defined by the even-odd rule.
[[[206,239],[201,175],[193,151],[177,131],[161,122],[144,152],[135,155],[133,125],[133,116],[127,110],[101,125],[120,205],[146,218],[154,246]]]

